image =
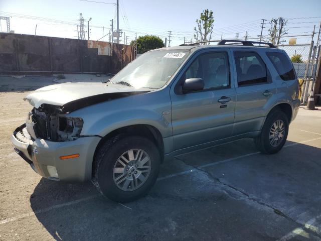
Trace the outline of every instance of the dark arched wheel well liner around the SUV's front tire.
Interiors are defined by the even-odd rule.
[[[116,129],[116,130],[108,133],[106,136],[104,136],[100,140],[100,142],[98,143],[96,150],[95,150],[95,154],[94,154],[94,158],[93,158],[93,162],[92,162],[92,167],[94,167],[95,157],[96,157],[96,154],[97,154],[97,151],[99,150],[99,148],[105,143],[106,140],[113,138],[119,134],[142,136],[142,137],[148,138],[149,140],[154,142],[157,149],[159,150],[159,154],[161,155],[162,162],[164,161],[163,136],[158,131],[158,129],[156,129],[155,127],[150,126],[150,125],[132,125],[132,126],[126,126],[126,127]],[[93,169],[92,169],[92,171],[93,171]]]

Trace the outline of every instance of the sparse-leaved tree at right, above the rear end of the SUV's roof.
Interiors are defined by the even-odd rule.
[[[281,37],[288,34],[288,29],[285,29],[287,25],[287,20],[285,20],[282,17],[279,17],[277,19],[271,19],[269,24],[269,40],[272,44],[278,45],[281,42]]]

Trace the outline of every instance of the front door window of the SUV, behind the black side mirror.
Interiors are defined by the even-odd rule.
[[[200,55],[186,70],[183,78],[202,78],[204,89],[228,87],[230,75],[227,53],[213,52]]]

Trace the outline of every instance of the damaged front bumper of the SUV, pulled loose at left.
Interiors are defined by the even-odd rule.
[[[18,127],[11,136],[11,141],[15,146],[15,151],[31,165],[35,172],[53,180],[90,180],[92,161],[96,147],[101,140],[100,137],[80,137],[75,141],[68,142],[32,140],[25,128],[25,124]],[[20,138],[17,137],[17,134]],[[23,138],[21,138],[22,135]],[[59,158],[72,154],[79,154],[79,157],[64,160]],[[49,169],[56,168],[58,177],[53,177],[49,173],[48,166]]]

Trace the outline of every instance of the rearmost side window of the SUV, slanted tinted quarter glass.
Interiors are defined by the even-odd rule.
[[[284,53],[266,52],[267,57],[271,60],[277,73],[283,80],[295,79],[293,65]]]

